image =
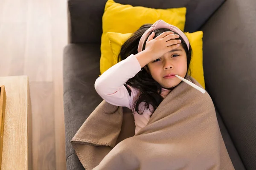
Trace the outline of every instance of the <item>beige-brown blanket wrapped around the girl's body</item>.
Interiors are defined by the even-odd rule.
[[[131,110],[115,109],[103,100],[71,140],[86,170],[234,170],[207,92],[181,82],[136,135]]]

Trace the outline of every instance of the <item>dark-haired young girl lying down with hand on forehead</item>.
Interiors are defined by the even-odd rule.
[[[175,74],[189,76],[191,54],[179,28],[163,20],[143,25],[122,45],[118,63],[96,79],[95,89],[106,102],[133,111],[136,134],[181,82]]]

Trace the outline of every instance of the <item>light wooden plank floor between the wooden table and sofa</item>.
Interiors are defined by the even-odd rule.
[[[29,76],[33,170],[66,169],[62,92],[66,2],[0,2],[0,77]]]

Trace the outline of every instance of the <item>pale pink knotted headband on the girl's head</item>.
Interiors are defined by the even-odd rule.
[[[153,32],[154,30],[159,29],[159,28],[167,28],[167,29],[170,29],[171,31],[175,31],[177,34],[180,35],[180,37],[183,38],[183,40],[186,42],[186,45],[189,49],[189,40],[186,37],[186,35],[182,31],[180,31],[179,28],[177,28],[169,23],[166,23],[163,20],[158,20],[150,28],[148,28],[148,30],[145,31],[144,34],[142,35],[142,37],[140,38],[140,42],[139,42],[139,46],[138,46],[138,53],[140,51],[142,51],[143,44],[146,41],[146,38],[149,36],[149,34],[151,34],[151,32]]]

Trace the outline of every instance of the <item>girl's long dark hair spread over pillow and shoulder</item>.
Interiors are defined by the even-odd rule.
[[[131,54],[135,55],[138,53],[137,49],[138,49],[138,45],[140,42],[140,38],[142,37],[144,32],[150,27],[151,27],[151,24],[145,24],[145,25],[141,26],[137,31],[134,32],[134,34],[132,34],[132,36],[128,40],[125,41],[125,43],[122,45],[121,51],[117,57],[117,62],[120,62],[123,59],[126,59]],[[155,37],[159,36],[160,34],[162,34],[163,32],[166,32],[166,31],[170,31],[170,30],[166,29],[166,28],[160,28],[160,29],[155,30],[154,31]],[[174,34],[177,34],[177,33],[174,32]],[[147,39],[148,39],[148,37],[147,37]],[[182,45],[182,47],[184,48],[184,50],[186,52],[187,68],[188,68],[186,76],[187,75],[189,76],[189,75],[191,75],[191,70],[189,68],[189,64],[190,64],[191,56],[192,56],[192,49],[191,49],[191,47],[189,47],[189,50],[188,50],[186,42],[183,40],[183,38],[179,37],[179,38],[177,38],[177,40],[178,39],[181,40],[180,44]],[[145,49],[145,42],[143,44],[143,50],[144,49]],[[143,111],[145,109],[150,110],[151,107],[149,107],[149,106],[152,105],[153,111],[151,111],[151,110],[150,111],[151,111],[151,113],[153,113],[156,110],[156,108],[160,105],[160,103],[163,101],[163,97],[160,95],[163,87],[161,87],[161,85],[152,78],[150,72],[148,71],[148,65],[145,65],[145,67],[143,67],[142,71],[139,71],[133,78],[128,79],[128,81],[124,85],[125,85],[125,88],[127,88],[130,96],[131,96],[131,89],[127,85],[130,85],[133,88],[137,88],[141,92],[138,99],[134,102],[134,105],[132,108],[133,111],[136,111],[139,114],[143,114],[143,112],[140,113],[140,110],[139,110],[139,105],[141,102],[145,102]],[[177,87],[177,86],[175,86],[175,87]],[[173,89],[175,89],[175,87],[168,88],[168,89],[172,91]]]

